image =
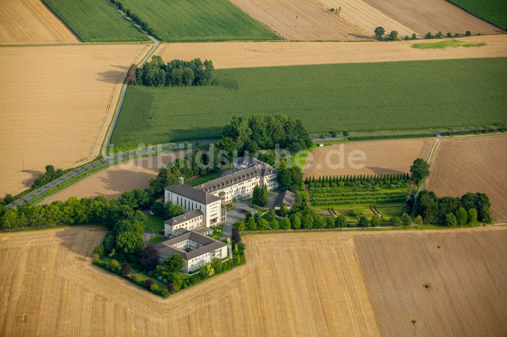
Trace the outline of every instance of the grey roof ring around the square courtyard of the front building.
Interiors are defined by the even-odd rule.
[[[192,240],[194,242],[204,245],[204,247],[186,252],[185,250],[178,249],[178,248],[172,246],[173,244],[176,244],[176,243],[179,243],[179,242],[182,242],[185,240]],[[164,241],[162,243],[158,243],[154,247],[160,251],[165,252],[167,255],[179,254],[179,255],[183,256],[183,258],[185,260],[189,261],[194,258],[197,258],[198,256],[201,256],[203,254],[207,254],[213,250],[219,249],[224,246],[226,246],[226,244],[224,242],[221,242],[221,241],[215,240],[209,236],[202,235],[200,233],[191,231],[191,232],[185,233],[183,235],[176,236],[176,237],[169,239],[167,241]]]

